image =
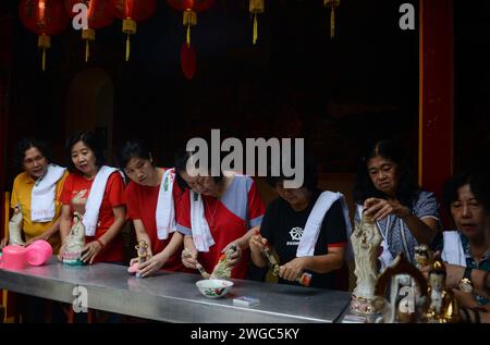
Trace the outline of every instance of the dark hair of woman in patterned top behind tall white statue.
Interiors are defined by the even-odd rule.
[[[353,190],[354,200],[357,204],[364,204],[367,198],[387,197],[384,193],[375,187],[367,170],[368,161],[376,156],[380,156],[396,163],[399,175],[396,198],[403,206],[406,206],[412,210],[414,202],[420,195],[420,187],[415,181],[414,174],[406,159],[405,150],[400,143],[394,140],[379,140],[368,146],[367,151],[363,156],[357,168]]]

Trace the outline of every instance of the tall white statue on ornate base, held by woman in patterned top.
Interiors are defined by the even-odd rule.
[[[378,280],[378,249],[382,242],[378,225],[365,214],[356,224],[351,236],[356,268],[356,287],[354,288],[351,310],[357,313],[373,315],[380,312],[379,298],[375,295]]]

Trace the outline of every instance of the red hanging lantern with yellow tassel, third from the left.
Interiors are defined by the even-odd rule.
[[[149,19],[157,9],[155,0],[110,0],[114,16],[123,21],[122,32],[126,38],[126,61],[130,60],[130,36],[136,34],[136,22]]]

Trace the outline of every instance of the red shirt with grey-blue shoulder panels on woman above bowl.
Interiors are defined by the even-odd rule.
[[[182,196],[181,212],[177,217],[177,230],[186,235],[192,235],[189,193],[187,189]],[[201,197],[215,245],[208,252],[199,252],[197,259],[205,270],[211,273],[224,247],[245,235],[249,229],[260,225],[266,209],[255,182],[246,175],[235,175],[220,199]],[[248,249],[243,251],[240,262],[232,270],[232,278],[246,276],[249,255]]]

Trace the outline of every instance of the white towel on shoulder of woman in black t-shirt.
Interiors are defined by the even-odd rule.
[[[321,224],[327,212],[332,207],[333,202],[341,200],[342,211],[344,213],[345,226],[347,229],[347,236],[351,237],[352,226],[348,219],[348,208],[345,198],[341,193],[322,192],[318,197],[311,212],[306,221],[303,230],[302,239],[296,249],[296,257],[310,257],[315,255],[315,247],[317,245],[318,236],[320,235]]]

